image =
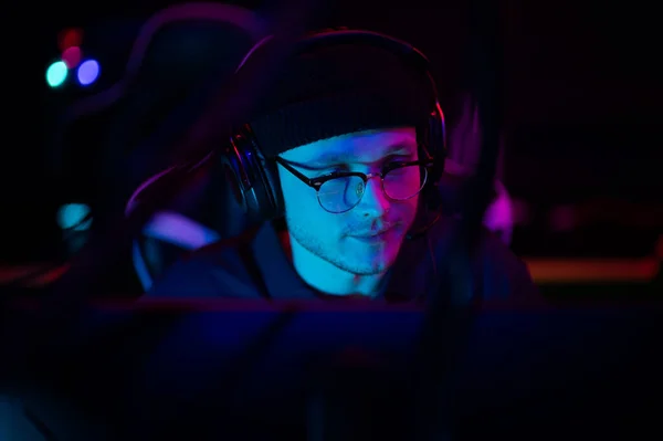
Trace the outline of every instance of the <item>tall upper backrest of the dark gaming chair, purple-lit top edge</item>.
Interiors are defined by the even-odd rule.
[[[263,20],[241,7],[168,7],[146,20],[117,83],[62,112],[50,162],[63,179],[82,174],[76,196],[91,201],[95,219],[113,219],[138,183],[171,164],[172,147],[200,116],[189,108],[204,108],[201,84],[232,75],[263,32]],[[155,139],[166,119],[167,139]]]

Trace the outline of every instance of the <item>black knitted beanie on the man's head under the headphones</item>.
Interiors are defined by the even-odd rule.
[[[250,126],[271,158],[344,134],[419,126],[433,105],[428,76],[401,55],[366,43],[336,44],[284,64]]]

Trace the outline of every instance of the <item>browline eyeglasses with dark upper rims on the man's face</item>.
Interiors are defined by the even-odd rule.
[[[366,193],[368,180],[375,177],[380,178],[382,192],[388,199],[403,201],[413,198],[423,189],[429,169],[433,167],[432,159],[393,161],[376,174],[335,171],[317,178],[308,178],[280,157],[276,158],[276,162],[313,188],[320,207],[335,214],[357,207]]]

